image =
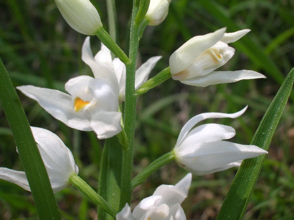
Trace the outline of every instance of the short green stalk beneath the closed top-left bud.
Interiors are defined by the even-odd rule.
[[[123,50],[114,42],[114,40],[110,37],[110,35],[107,33],[107,31],[101,27],[96,32],[97,37],[100,39],[100,41],[108,48],[110,49],[125,65],[130,63],[129,58]]]

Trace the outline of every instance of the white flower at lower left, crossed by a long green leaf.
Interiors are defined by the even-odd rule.
[[[41,157],[48,172],[51,187],[54,193],[64,189],[69,183],[69,177],[78,173],[71,150],[61,139],[49,130],[31,127]],[[0,168],[0,179],[15,183],[30,191],[25,172]]]

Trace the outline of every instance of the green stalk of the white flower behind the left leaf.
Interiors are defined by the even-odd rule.
[[[98,193],[96,193],[95,190],[93,190],[93,188],[89,186],[81,177],[74,173],[69,177],[69,181],[82,193],[88,196],[88,198],[90,198],[92,202],[98,205],[98,207],[100,207],[115,218],[116,212],[113,210],[113,208],[107,203],[107,201],[105,201],[104,198],[99,196]]]

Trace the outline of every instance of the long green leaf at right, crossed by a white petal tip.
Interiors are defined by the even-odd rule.
[[[265,150],[269,149],[273,133],[282,116],[294,83],[294,68],[284,80],[270,107],[260,122],[251,141]],[[241,220],[245,214],[249,198],[260,173],[265,155],[246,159],[238,170],[216,220]]]

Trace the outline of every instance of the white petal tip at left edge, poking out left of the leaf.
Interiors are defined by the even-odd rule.
[[[15,183],[27,191],[30,191],[24,171],[14,171],[0,167],[0,179]]]

